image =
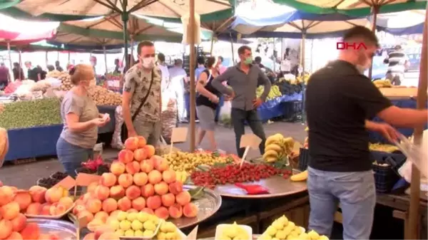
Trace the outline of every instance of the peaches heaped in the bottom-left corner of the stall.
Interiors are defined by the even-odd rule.
[[[55,234],[41,234],[39,225],[27,224],[26,214],[59,215],[73,207],[73,199],[61,187],[45,189],[34,186],[29,191],[0,187],[0,239],[55,240]],[[28,216],[28,215],[27,215]]]

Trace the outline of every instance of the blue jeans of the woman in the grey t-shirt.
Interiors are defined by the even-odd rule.
[[[93,150],[72,145],[59,137],[58,142],[56,142],[56,155],[58,155],[58,160],[63,165],[66,174],[76,177],[76,169],[82,167],[82,162],[93,158]]]

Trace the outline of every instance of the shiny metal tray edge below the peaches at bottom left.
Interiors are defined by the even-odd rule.
[[[76,240],[76,226],[69,221],[53,219],[27,219],[27,223],[36,223],[41,234],[56,234],[61,240]]]

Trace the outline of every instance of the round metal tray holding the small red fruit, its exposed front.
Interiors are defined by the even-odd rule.
[[[244,189],[236,187],[234,184],[218,185],[214,191],[223,197],[261,199],[270,197],[283,197],[307,190],[306,182],[292,182],[290,178],[284,179],[281,176],[273,176],[261,179],[256,182],[244,182],[243,184],[260,184],[265,187],[270,194],[250,195]]]

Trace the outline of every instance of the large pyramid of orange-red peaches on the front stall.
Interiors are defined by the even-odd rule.
[[[195,217],[198,208],[190,202],[168,162],[155,154],[143,137],[130,137],[110,172],[89,184],[86,194],[76,200],[73,214],[86,217],[88,228],[106,224],[118,212],[147,212],[161,219]]]

